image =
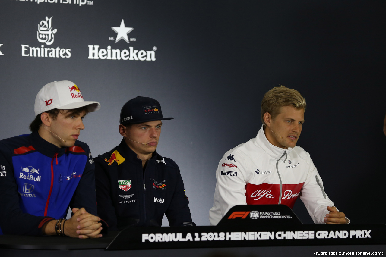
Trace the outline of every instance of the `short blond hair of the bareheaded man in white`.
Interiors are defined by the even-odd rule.
[[[274,118],[279,114],[280,107],[292,105],[296,109],[306,110],[306,100],[298,90],[285,86],[276,86],[265,93],[261,101],[261,121],[264,123],[264,113]]]

